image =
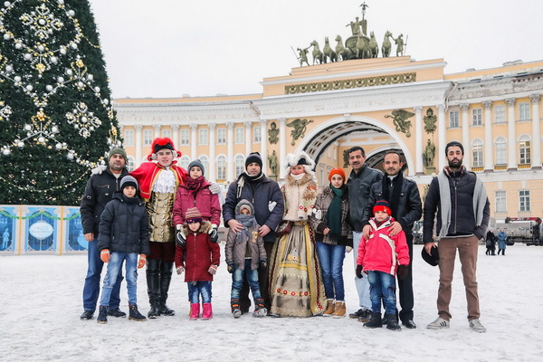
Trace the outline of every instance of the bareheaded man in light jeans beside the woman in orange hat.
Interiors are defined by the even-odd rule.
[[[348,211],[349,222],[353,229],[353,256],[355,268],[357,267],[358,245],[362,237],[362,214],[366,208],[369,187],[376,181],[381,181],[383,173],[379,170],[367,167],[364,148],[355,146],[348,150],[348,164],[353,168],[348,176]],[[366,274],[364,274],[366,275]],[[369,321],[371,315],[371,300],[369,299],[369,282],[367,277],[358,279],[357,285],[358,304],[360,309],[350,313],[350,318],[356,318],[361,322]]]

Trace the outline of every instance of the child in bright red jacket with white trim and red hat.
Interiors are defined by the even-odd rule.
[[[390,217],[390,205],[385,200],[376,202],[373,208],[375,217],[369,220],[371,232],[369,239],[363,239],[358,246],[357,277],[362,278],[362,271],[367,273],[371,298],[371,319],[364,323],[367,328],[380,328],[381,300],[385,304],[386,328],[399,330],[395,313],[395,273],[404,279],[409,264],[409,248],[405,233],[401,231],[390,236],[389,227],[394,223]]]

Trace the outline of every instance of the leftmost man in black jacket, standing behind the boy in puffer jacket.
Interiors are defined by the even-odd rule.
[[[100,294],[100,274],[104,266],[104,262],[100,260],[97,241],[100,215],[113,194],[120,191],[120,179],[129,175],[126,169],[127,153],[124,149],[112,148],[107,161],[108,167],[105,170],[90,176],[81,200],[81,224],[85,240],[89,242],[87,248],[89,266],[83,287],[84,311],[81,314],[82,320],[92,319]],[[122,272],[119,271],[117,282],[111,292],[110,309],[108,310],[108,315],[112,317],[127,316],[127,313],[119,310],[119,289],[122,280]]]

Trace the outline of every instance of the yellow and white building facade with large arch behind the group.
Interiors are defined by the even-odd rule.
[[[183,154],[181,166],[199,158],[206,178],[224,186],[253,151],[261,153],[264,172],[281,181],[286,155],[300,150],[316,160],[326,185],[332,167],[349,172],[348,148],[364,148],[368,165],[377,168],[395,149],[424,195],[446,165],[444,146],[455,139],[463,144],[464,165],[487,187],[492,217],[543,216],[543,61],[454,74],[444,74],[445,65],[408,56],[349,60],[265,78],[262,94],[114,105],[130,167],[146,160],[154,138],[169,137]]]

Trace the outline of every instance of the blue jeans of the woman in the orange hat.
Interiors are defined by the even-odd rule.
[[[343,286],[345,245],[330,245],[318,242],[317,252],[319,253],[326,298],[345,301],[345,287]]]

